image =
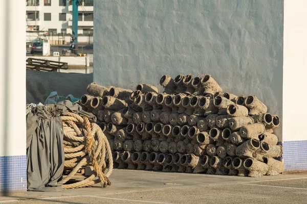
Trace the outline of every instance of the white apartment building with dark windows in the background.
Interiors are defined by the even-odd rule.
[[[27,31],[72,34],[72,0],[26,0],[26,5]],[[78,34],[93,34],[93,6],[94,0],[79,0]]]

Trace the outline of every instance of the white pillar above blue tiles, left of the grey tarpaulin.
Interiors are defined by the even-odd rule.
[[[0,156],[26,155],[25,11],[19,1],[0,7]]]

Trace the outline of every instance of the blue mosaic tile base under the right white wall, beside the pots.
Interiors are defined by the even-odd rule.
[[[307,171],[307,140],[282,142],[283,171]]]

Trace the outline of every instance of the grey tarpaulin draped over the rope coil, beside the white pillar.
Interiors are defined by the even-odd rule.
[[[93,114],[65,100],[52,105],[27,107],[27,183],[30,191],[58,191],[64,169],[62,115],[68,111],[96,122]]]

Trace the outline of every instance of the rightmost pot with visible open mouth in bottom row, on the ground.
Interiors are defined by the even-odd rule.
[[[248,158],[243,163],[244,167],[249,170],[248,176],[261,177],[268,172],[268,165],[256,159]]]

